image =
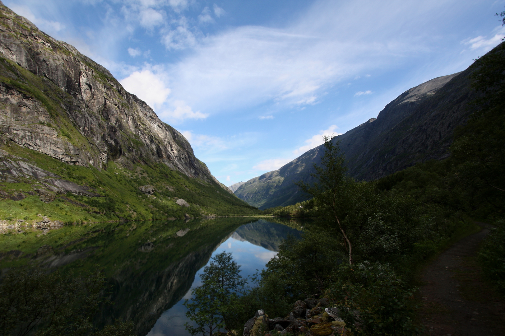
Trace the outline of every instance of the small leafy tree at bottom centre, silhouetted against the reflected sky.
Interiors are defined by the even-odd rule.
[[[210,335],[221,328],[231,332],[230,326],[239,312],[238,296],[242,294],[245,279],[240,276],[240,266],[226,251],[212,258],[200,274],[201,286],[191,291],[193,299],[184,301],[186,316],[196,323],[186,323],[192,335]]]

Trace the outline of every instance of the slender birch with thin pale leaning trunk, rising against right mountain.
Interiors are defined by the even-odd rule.
[[[352,189],[356,183],[345,173],[347,171],[344,166],[345,157],[340,151],[339,142],[333,143],[329,136],[324,136],[324,148],[321,165],[314,164],[316,173],[311,174],[316,182],[312,186],[304,182],[298,182],[297,185],[317,200],[318,204],[323,205],[336,222],[349,254],[349,265],[352,265],[352,244],[346,233],[347,228],[343,219],[347,215],[355,194]]]

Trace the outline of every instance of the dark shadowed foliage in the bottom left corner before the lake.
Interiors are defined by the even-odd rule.
[[[91,335],[91,318],[107,301],[104,289],[105,277],[97,268],[84,276],[72,270],[11,270],[0,284],[0,335]],[[132,326],[107,326],[97,335],[130,336]]]

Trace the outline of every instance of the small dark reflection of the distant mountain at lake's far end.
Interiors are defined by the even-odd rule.
[[[233,232],[231,237],[277,252],[279,251],[279,245],[288,235],[299,238],[300,233],[301,231],[291,227],[260,219],[254,223],[240,226]]]

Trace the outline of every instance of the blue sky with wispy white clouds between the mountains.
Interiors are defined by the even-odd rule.
[[[377,117],[505,36],[505,0],[4,4],[108,68],[226,185]]]

